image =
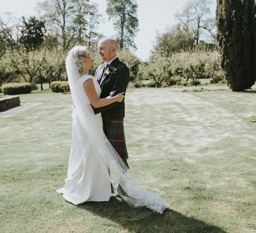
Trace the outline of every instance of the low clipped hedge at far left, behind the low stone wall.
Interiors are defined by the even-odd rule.
[[[31,90],[31,83],[7,83],[2,86],[2,92],[5,95],[27,94]]]

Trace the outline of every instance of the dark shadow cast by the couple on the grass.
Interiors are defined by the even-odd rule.
[[[169,208],[163,214],[154,213],[145,207],[133,208],[120,198],[110,198],[108,202],[85,202],[77,207],[107,218],[131,232],[226,232]]]

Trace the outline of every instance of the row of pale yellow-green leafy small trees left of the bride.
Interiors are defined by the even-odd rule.
[[[27,51],[23,47],[19,50],[7,50],[0,58],[1,81],[2,83],[18,81],[17,76],[25,82],[41,84],[48,82],[49,85],[52,81],[66,80],[65,57],[65,52],[55,49],[41,48]]]

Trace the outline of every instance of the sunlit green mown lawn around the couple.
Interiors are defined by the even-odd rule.
[[[43,104],[0,118],[0,232],[256,232],[256,87],[185,89],[126,94],[129,166],[168,201],[162,215],[119,198],[65,201],[71,96],[20,95]]]

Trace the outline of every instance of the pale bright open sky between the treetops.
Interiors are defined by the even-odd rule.
[[[0,16],[4,12],[12,12],[13,16],[37,16],[35,10],[37,2],[43,0],[0,0]],[[117,0],[118,1],[118,0]],[[103,14],[104,22],[99,25],[98,32],[104,36],[114,37],[115,30],[112,21],[106,14],[106,0],[91,0],[99,5],[99,13]],[[187,0],[137,0],[137,16],[139,20],[139,32],[134,38],[137,51],[134,52],[142,61],[149,58],[150,50],[153,49],[155,38],[158,33],[163,33],[168,25],[176,24],[174,14],[182,11]],[[216,1],[209,5],[212,16],[216,11]]]

